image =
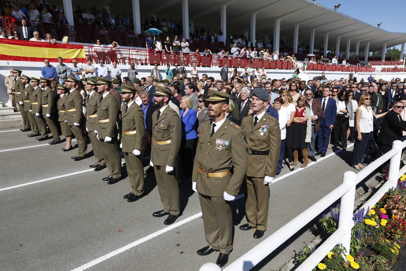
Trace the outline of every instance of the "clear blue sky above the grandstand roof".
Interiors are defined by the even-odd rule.
[[[316,0],[316,3],[333,8],[341,4],[337,11],[373,26],[382,22],[380,28],[391,32],[406,32],[404,23],[405,0]],[[396,46],[400,50],[400,46]]]

